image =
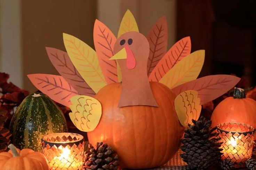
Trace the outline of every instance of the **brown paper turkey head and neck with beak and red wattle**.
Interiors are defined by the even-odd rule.
[[[114,53],[116,55],[111,59],[118,61],[122,72],[122,92],[118,107],[158,107],[147,77],[149,42],[146,37],[137,32],[125,33],[117,39]]]

